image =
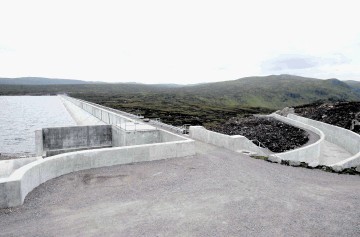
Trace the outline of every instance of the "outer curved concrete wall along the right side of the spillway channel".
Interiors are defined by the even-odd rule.
[[[360,165],[360,135],[344,128],[304,118],[298,115],[289,114],[288,117],[292,120],[316,127],[325,134],[325,139],[327,141],[334,143],[353,154],[352,157],[332,165],[335,170],[341,171],[346,168]]]

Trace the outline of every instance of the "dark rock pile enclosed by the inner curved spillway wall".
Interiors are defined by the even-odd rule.
[[[308,133],[273,118],[231,118],[226,123],[212,128],[227,135],[243,135],[261,142],[273,152],[283,152],[300,147],[308,142]],[[254,141],[256,145],[257,142]]]

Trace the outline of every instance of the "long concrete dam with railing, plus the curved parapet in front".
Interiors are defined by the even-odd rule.
[[[8,176],[0,178],[0,208],[21,205],[35,187],[71,172],[195,155],[194,140],[74,98],[67,100],[108,124],[37,131],[37,152],[44,158],[6,170]],[[81,117],[94,122],[87,114]]]

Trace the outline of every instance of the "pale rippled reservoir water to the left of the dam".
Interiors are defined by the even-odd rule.
[[[0,153],[33,155],[35,130],[76,125],[58,96],[0,96]]]

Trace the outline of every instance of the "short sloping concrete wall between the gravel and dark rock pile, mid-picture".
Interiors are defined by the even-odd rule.
[[[246,137],[240,135],[229,136],[209,131],[202,126],[190,126],[189,136],[193,139],[224,147],[232,151],[250,151],[257,153],[258,155],[266,155],[266,152],[262,148],[256,146]]]

